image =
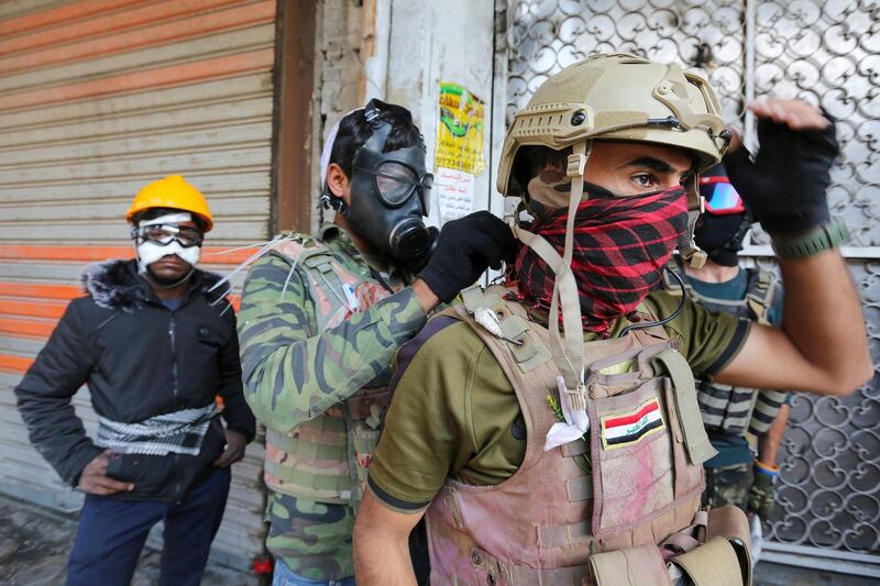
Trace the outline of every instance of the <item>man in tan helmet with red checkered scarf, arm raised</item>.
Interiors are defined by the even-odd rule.
[[[522,246],[504,286],[464,291],[398,353],[360,585],[414,582],[422,516],[437,585],[750,583],[745,515],[700,511],[714,450],[693,373],[844,395],[872,371],[825,202],[834,128],[801,102],[751,108],[761,151],[725,162],[773,236],[780,329],[650,292],[676,246],[705,258],[697,174],[732,135],[702,78],[598,55],[515,117],[498,189],[522,200]]]

